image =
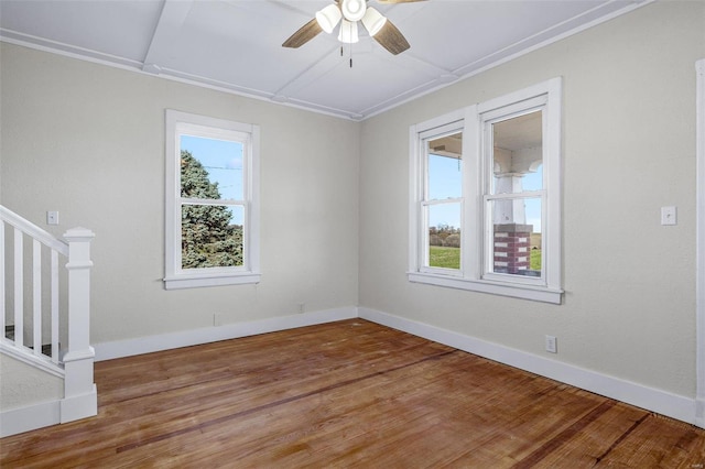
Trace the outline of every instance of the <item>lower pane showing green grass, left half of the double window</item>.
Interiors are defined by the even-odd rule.
[[[437,204],[429,210],[431,268],[460,269],[460,204]]]

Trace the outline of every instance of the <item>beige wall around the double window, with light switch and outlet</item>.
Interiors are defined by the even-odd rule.
[[[693,397],[703,57],[705,3],[659,2],[365,121],[360,305]],[[409,283],[409,126],[556,76],[564,304]],[[662,227],[670,205],[679,225]]]

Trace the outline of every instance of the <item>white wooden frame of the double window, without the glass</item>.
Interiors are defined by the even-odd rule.
[[[474,292],[561,304],[561,149],[562,78],[553,78],[478,105],[411,126],[409,272],[411,282]],[[542,197],[542,274],[541,277],[491,272],[494,229],[488,201],[492,177],[491,152],[487,150],[486,129],[491,122],[509,119],[530,110],[542,110],[543,190],[512,195]],[[453,122],[463,122],[463,216],[460,228],[460,269],[424,265],[427,250],[427,222],[423,219],[426,181],[426,150],[423,140]],[[491,140],[491,139],[490,139]]]

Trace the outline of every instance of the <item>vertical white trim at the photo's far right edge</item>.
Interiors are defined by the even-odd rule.
[[[695,229],[695,425],[705,428],[705,58],[695,63],[697,76],[695,110],[696,229]]]

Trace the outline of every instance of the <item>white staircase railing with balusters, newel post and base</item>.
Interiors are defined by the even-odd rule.
[[[0,437],[96,415],[95,351],[89,342],[95,234],[74,228],[59,240],[3,206],[0,221],[0,353],[25,367],[15,375],[0,369],[0,378],[11,383],[10,391],[22,390],[32,374],[24,370],[31,367],[40,377],[63,383],[63,395],[48,401],[30,396],[19,402],[21,392],[7,392],[14,397],[0,400]],[[34,372],[30,379],[36,377]]]

